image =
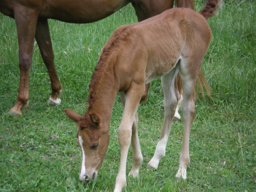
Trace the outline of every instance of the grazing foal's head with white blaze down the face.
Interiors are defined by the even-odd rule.
[[[108,131],[101,131],[100,120],[94,113],[80,116],[71,109],[65,109],[64,112],[78,124],[76,142],[82,151],[79,179],[88,183],[90,179],[97,178],[108,149]]]

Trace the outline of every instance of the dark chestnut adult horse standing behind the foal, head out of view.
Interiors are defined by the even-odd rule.
[[[178,7],[193,8],[193,0],[176,0]],[[29,69],[32,64],[34,39],[38,44],[50,76],[50,103],[59,104],[62,86],[56,73],[47,19],[70,23],[90,23],[108,17],[132,3],[138,21],[162,13],[173,7],[174,0],[0,0],[0,12],[15,19],[19,42],[20,87],[17,102],[8,113],[22,115],[28,106]],[[147,94],[144,95],[147,99]]]

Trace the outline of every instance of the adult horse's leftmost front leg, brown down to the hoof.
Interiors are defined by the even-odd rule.
[[[34,38],[38,13],[27,7],[18,6],[14,9],[19,42],[20,88],[17,102],[8,113],[21,115],[21,108],[28,106],[29,69],[32,64]]]

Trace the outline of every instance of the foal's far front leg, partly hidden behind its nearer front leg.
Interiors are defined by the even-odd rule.
[[[123,106],[125,106],[125,94],[120,93],[120,98],[122,100]],[[132,124],[132,169],[128,176],[138,177],[140,165],[142,164],[143,157],[140,149],[140,141],[138,136],[138,116],[135,114],[133,124]]]

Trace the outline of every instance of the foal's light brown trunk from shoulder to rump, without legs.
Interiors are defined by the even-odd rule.
[[[116,54],[115,67],[124,72],[120,74],[121,79],[125,74],[133,75],[127,77],[130,80],[144,74],[145,83],[149,83],[172,70],[182,58],[200,63],[211,36],[211,29],[202,15],[191,9],[174,8],[118,28],[108,43],[119,39],[113,53]]]

